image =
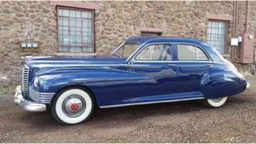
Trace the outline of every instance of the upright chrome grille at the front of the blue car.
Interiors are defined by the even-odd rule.
[[[28,96],[28,74],[29,74],[29,67],[23,65],[22,69],[22,90],[24,96]]]

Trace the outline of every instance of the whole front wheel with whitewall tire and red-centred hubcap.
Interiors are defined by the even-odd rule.
[[[69,88],[58,93],[53,99],[51,108],[53,117],[64,125],[86,121],[93,110],[92,95],[78,88]]]

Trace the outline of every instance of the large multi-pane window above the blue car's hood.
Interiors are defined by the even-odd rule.
[[[94,52],[94,12],[58,8],[58,51]]]

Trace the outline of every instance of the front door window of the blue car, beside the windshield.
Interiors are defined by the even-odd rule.
[[[170,44],[154,44],[145,48],[137,60],[173,60],[172,46]]]

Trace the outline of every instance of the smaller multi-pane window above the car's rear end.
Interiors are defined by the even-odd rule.
[[[209,20],[207,25],[207,43],[221,54],[225,54],[227,24]]]

